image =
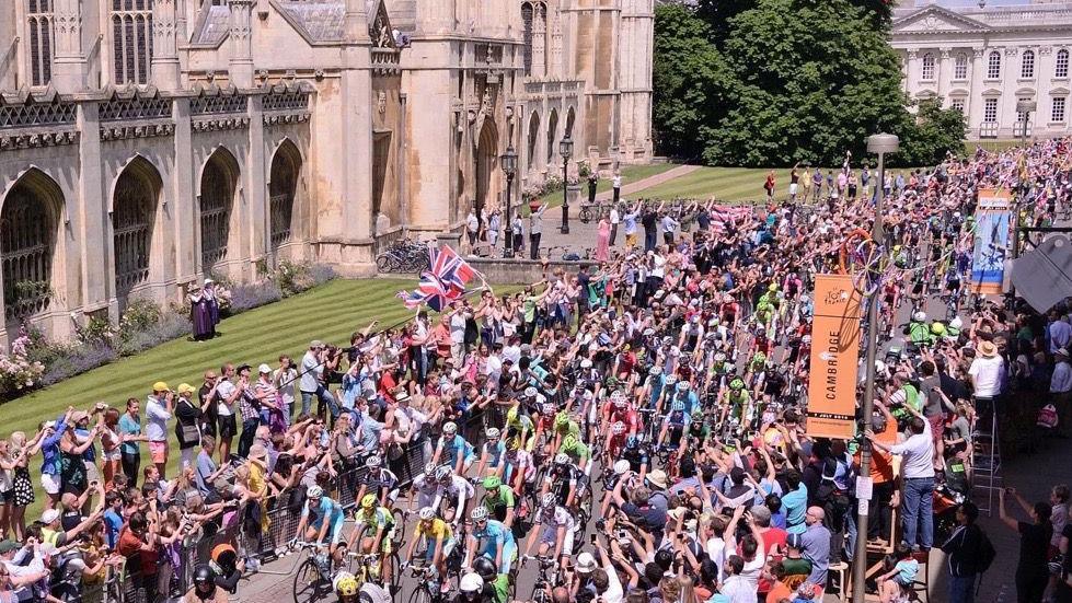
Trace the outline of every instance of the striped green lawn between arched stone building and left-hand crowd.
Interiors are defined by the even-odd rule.
[[[204,371],[209,368],[219,370],[223,362],[249,363],[254,371],[261,362],[275,367],[280,353],[289,353],[300,362],[312,339],[346,346],[350,334],[365,328],[372,320],[379,320],[379,326],[385,328],[412,316],[394,295],[400,289],[413,288],[415,283],[414,279],[334,280],[278,303],[244,312],[220,323],[221,336],[210,341],[169,341],[3,404],[0,406],[0,425],[3,426],[0,434],[7,437],[12,431],[25,431],[32,437],[41,421],[56,418],[69,405],[88,409],[93,403],[103,401],[122,409],[129,397],[145,401],[155,381],[166,381],[172,390],[183,382],[200,387]],[[504,292],[514,289],[517,288],[504,287]],[[171,436],[169,476],[175,475],[178,464],[174,432]],[[238,445],[238,439],[233,445]],[[97,451],[100,453],[100,447]],[[147,451],[142,451],[141,459],[145,466]],[[31,466],[35,486],[38,485],[39,464],[38,455]],[[44,494],[39,489],[36,494],[37,502],[27,512],[27,522],[36,519],[41,509]]]

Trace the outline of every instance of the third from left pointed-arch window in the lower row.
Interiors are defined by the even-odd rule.
[[[212,153],[201,172],[201,270],[209,272],[227,258],[231,207],[238,185],[238,164],[227,151]]]

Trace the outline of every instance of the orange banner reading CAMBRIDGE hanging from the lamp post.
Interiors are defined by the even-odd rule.
[[[861,293],[850,275],[816,275],[808,383],[808,436],[856,434]]]

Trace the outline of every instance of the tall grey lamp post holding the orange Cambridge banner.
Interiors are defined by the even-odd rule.
[[[891,134],[876,134],[867,137],[867,152],[878,154],[878,190],[875,196],[875,225],[872,231],[872,240],[876,245],[881,245],[886,239],[883,231],[883,196],[885,195],[886,184],[886,153],[896,153],[900,140]],[[875,402],[875,355],[878,347],[878,292],[868,295],[867,299],[867,364],[866,381],[864,382],[864,404],[863,417],[864,425],[871,425],[871,416],[874,413]],[[871,441],[864,440],[860,454],[860,475],[871,475]],[[867,573],[867,507],[869,499],[861,499],[858,505],[858,517],[856,518],[856,546],[852,564],[852,601],[863,603],[864,581]]]

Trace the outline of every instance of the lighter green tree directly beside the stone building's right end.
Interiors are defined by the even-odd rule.
[[[691,9],[660,4],[655,12],[655,130],[660,152],[699,158],[698,132],[726,101],[728,79],[711,27]]]

